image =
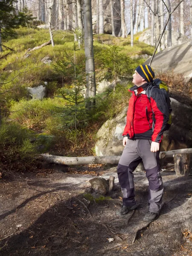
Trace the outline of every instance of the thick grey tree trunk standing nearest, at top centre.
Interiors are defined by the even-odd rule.
[[[93,26],[92,26],[92,12],[91,0],[84,0],[84,51],[85,51],[85,71],[86,71],[86,99],[96,95],[96,81],[95,81],[95,63],[93,54]],[[99,17],[100,19],[100,17]],[[86,107],[95,105],[95,100],[91,99]]]

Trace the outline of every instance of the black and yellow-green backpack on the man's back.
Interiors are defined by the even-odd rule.
[[[167,131],[167,130],[169,130],[169,128],[172,124],[172,108],[171,108],[171,100],[169,97],[169,88],[165,82],[161,81],[160,79],[154,79],[153,83],[151,85],[149,85],[146,90],[146,95],[149,99],[149,102],[151,102],[151,91],[153,90],[154,87],[162,90],[162,92],[166,96],[166,103],[167,103],[167,107],[169,109],[169,121],[167,122],[167,125],[166,125],[166,128],[164,129],[164,131]],[[154,114],[153,114],[153,125],[152,125],[153,130],[154,130],[154,125],[155,125],[155,118],[154,118]]]

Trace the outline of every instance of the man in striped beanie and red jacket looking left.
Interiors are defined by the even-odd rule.
[[[143,160],[149,182],[149,211],[145,214],[144,221],[153,221],[161,208],[163,182],[160,175],[159,149],[169,120],[169,109],[162,90],[153,87],[150,99],[146,95],[154,76],[154,70],[149,65],[140,65],[135,70],[132,81],[135,85],[129,89],[132,95],[122,134],[125,148],[117,167],[123,206],[116,214],[125,215],[136,208],[133,172]],[[155,125],[152,128],[154,119]]]

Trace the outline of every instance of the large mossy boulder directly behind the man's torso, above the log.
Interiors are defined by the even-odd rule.
[[[168,151],[192,146],[192,108],[171,99],[172,125],[164,132],[161,151]],[[127,108],[116,118],[108,120],[97,133],[96,156],[122,154],[122,133],[126,123]]]

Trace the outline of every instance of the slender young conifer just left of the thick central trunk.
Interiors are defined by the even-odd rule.
[[[77,62],[76,60],[76,44],[74,43],[74,55],[69,55],[66,52],[66,60],[59,60],[55,65],[55,69],[62,73],[65,78],[70,78],[72,84],[69,86],[64,84],[64,87],[59,90],[69,104],[63,108],[64,125],[66,129],[75,129],[84,127],[87,124],[87,113],[85,108],[85,73],[84,61]]]

